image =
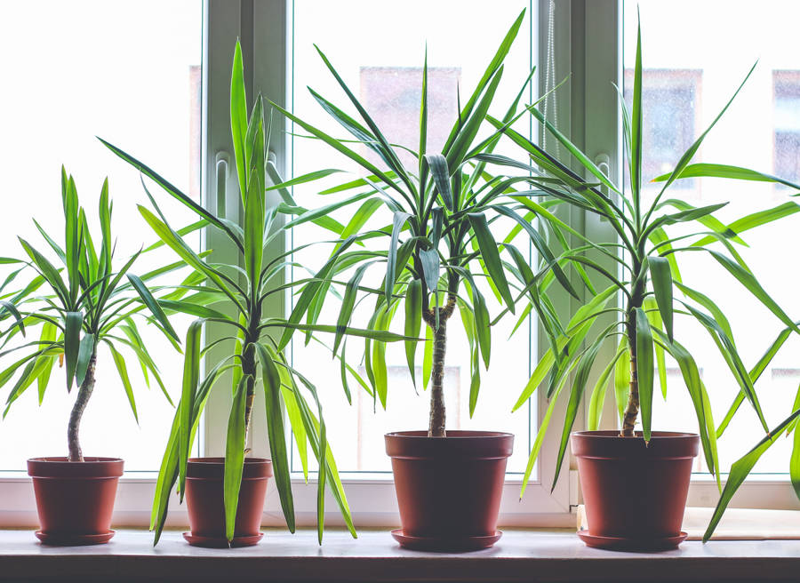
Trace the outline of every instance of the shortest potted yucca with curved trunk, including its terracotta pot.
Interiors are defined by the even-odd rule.
[[[63,246],[34,221],[59,262],[53,264],[44,252],[20,237],[28,260],[19,262],[27,263],[37,275],[25,288],[4,294],[5,299],[0,301],[0,317],[13,320],[4,331],[0,355],[24,354],[0,372],[0,387],[16,376],[5,401],[4,416],[34,383],[38,387],[39,403],[42,402],[57,362],[64,365],[67,390],[73,385],[78,387],[69,415],[68,456],[28,459],[28,475],[33,478],[42,527],[36,531],[36,537],[52,545],[97,544],[114,536],[109,527],[116,484],[123,474],[122,459],[84,457],[81,449],[81,419],[94,390],[100,347],[108,348],[137,420],[124,352],[135,355],[145,379],[148,374],[152,375],[167,400],[170,399],[134,316],[147,314],[168,338],[177,342],[177,334],[145,282],[183,267],[183,263],[134,276],[129,270],[140,251],[115,270],[108,180],[100,193],[100,233],[94,239],[78,201],[75,180],[63,168],[61,198],[65,226]],[[93,241],[98,242],[97,247]],[[59,263],[61,267],[56,267]],[[20,270],[12,272],[4,284],[13,281],[19,273]],[[39,292],[43,286],[47,292]],[[182,294],[176,291],[164,297],[180,298]],[[12,339],[18,338],[17,334],[25,336],[40,325],[38,339],[29,340],[28,336],[28,341],[8,347]],[[19,375],[18,371],[21,371]]]

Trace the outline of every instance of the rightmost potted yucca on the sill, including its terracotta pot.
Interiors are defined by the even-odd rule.
[[[708,331],[738,383],[742,399],[748,400],[769,435],[753,386],[763,367],[760,371],[748,372],[733,342],[727,318],[712,298],[693,289],[689,282],[682,279],[678,260],[689,252],[707,255],[778,317],[788,327],[787,334],[791,331],[800,332],[791,318],[764,291],[735,249],[735,244],[742,244],[740,235],[743,231],[797,212],[800,207],[795,203],[782,204],[769,212],[756,212],[726,225],[715,217],[715,212],[724,204],[694,207],[681,200],[679,195],[665,197],[676,180],[692,177],[766,180],[800,188],[786,180],[739,167],[691,164],[700,144],[743,85],[744,82],[708,129],[681,156],[675,169],[654,179],[663,186],[652,200],[644,196],[642,186],[641,32],[636,45],[630,111],[620,94],[629,191],[609,180],[537,110],[531,111],[532,116],[544,124],[548,132],[567,149],[572,160],[587,172],[590,181],[580,178],[570,170],[569,164],[559,162],[543,148],[510,129],[505,130],[508,137],[530,156],[537,172],[556,180],[557,186],[548,191],[552,200],[599,215],[608,221],[619,237],[614,244],[598,244],[583,237],[580,247],[567,250],[559,257],[559,260],[580,261],[583,267],[602,276],[609,286],[604,291],[590,294],[588,301],[572,315],[564,334],[556,341],[556,350],[551,349],[541,359],[515,407],[518,408],[530,398],[540,385],[540,390],[547,391],[548,410],[532,447],[524,476],[524,483],[527,483],[556,403],[566,400],[554,487],[567,443],[571,440],[572,453],[578,460],[588,520],[588,531],[580,531],[579,536],[592,547],[657,549],[676,547],[685,539],[681,522],[692,458],[698,452],[699,443],[706,464],[719,483],[717,431],[708,393],[689,348],[676,339],[676,315],[692,319]],[[498,120],[490,121],[495,127],[502,126]],[[603,189],[607,189],[609,194],[605,194]],[[532,201],[521,202],[533,211],[546,212]],[[671,231],[672,226],[680,229]],[[578,233],[572,235],[580,236]],[[717,244],[716,248],[711,244]],[[617,268],[605,268],[602,261],[612,262]],[[618,294],[624,298],[623,308],[614,307]],[[610,325],[601,324],[601,316],[610,313],[616,314],[613,322]],[[619,344],[612,359],[600,363],[602,371],[588,404],[589,430],[572,433],[571,437],[589,374],[596,364],[600,348],[608,341]],[[666,385],[666,355],[675,359],[683,375],[697,416],[699,435],[652,429],[654,370],[657,363],[663,391]],[[571,371],[574,371],[572,380]],[[596,431],[612,375],[621,429]],[[570,388],[564,391],[565,386]],[[635,430],[637,420],[641,421],[641,431]],[[728,483],[731,489],[736,486],[738,483],[733,486],[731,482]]]

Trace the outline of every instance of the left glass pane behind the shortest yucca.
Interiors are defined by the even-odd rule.
[[[76,178],[92,229],[98,228],[97,201],[108,176],[117,268],[143,244],[155,242],[136,210],[136,204],[146,202],[137,172],[95,135],[148,160],[199,198],[202,31],[200,0],[0,4],[0,70],[6,82],[0,92],[0,255],[21,256],[17,236],[46,248],[32,216],[53,238],[63,240],[61,164]],[[176,226],[192,221],[180,205],[164,202],[163,207]],[[132,273],[174,260],[170,252],[148,253]],[[186,320],[174,323],[183,336]],[[177,402],[182,358],[153,326],[139,327]],[[3,367],[10,358],[4,357]],[[172,407],[152,378],[146,387],[135,357],[125,358],[139,426],[111,355],[101,347],[97,383],[81,426],[84,454],[121,457],[126,470],[157,470]],[[22,469],[25,459],[34,456],[66,455],[75,395],[75,389],[67,394],[64,371],[58,368],[41,407],[36,385],[28,389],[0,422],[0,470]]]

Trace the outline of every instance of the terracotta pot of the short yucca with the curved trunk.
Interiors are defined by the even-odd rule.
[[[48,545],[94,545],[114,536],[116,484],[124,461],[117,458],[28,459],[41,530]]]

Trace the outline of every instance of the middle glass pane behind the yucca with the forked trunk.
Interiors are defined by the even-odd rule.
[[[390,142],[418,149],[420,136],[420,95],[422,63],[426,42],[428,45],[428,151],[439,151],[452,125],[458,118],[458,94],[468,99],[480,76],[492,59],[501,39],[511,23],[523,9],[530,17],[529,2],[504,2],[496,4],[491,11],[477,0],[467,2],[448,0],[426,3],[412,0],[404,3],[375,3],[366,0],[344,3],[318,3],[312,0],[294,2],[293,36],[293,83],[292,100],[294,113],[302,119],[331,133],[345,137],[342,128],[332,121],[306,89],[307,85],[351,116],[357,113],[348,102],[335,79],[324,67],[313,44],[317,44],[332,61],[348,86],[353,90],[364,108]],[[333,20],[341,21],[347,12],[346,29],[330,27]],[[490,112],[503,116],[532,66],[530,21],[525,20],[516,43],[505,61],[503,79]],[[527,93],[525,103],[531,102]],[[300,130],[296,130],[302,133]],[[519,132],[528,135],[527,122],[520,124]],[[488,135],[489,129],[485,132]],[[300,176],[321,168],[340,168],[360,175],[356,164],[333,152],[316,140],[295,137],[291,140],[293,152],[292,174]],[[496,153],[518,155],[511,147],[500,147]],[[367,148],[357,147],[373,164],[384,167],[378,156]],[[403,163],[411,169],[417,166],[416,158],[406,152],[400,154]],[[413,172],[416,173],[414,170]],[[337,174],[326,182],[335,185],[353,177]],[[335,195],[319,196],[318,183],[311,188],[295,187],[294,196],[298,204],[316,208],[337,200]],[[355,194],[356,191],[353,192]],[[346,223],[356,206],[345,212],[333,212],[332,217]],[[375,228],[391,223],[391,214],[381,208],[372,216]],[[508,235],[509,223],[497,228],[497,236]],[[295,228],[292,244],[300,244],[333,238],[316,227]],[[320,268],[332,250],[331,245],[318,245],[295,257],[308,269]],[[384,269],[385,271],[385,269]],[[347,281],[352,270],[341,274],[339,279]],[[303,268],[295,268],[295,280],[307,277]],[[380,268],[367,271],[362,285],[380,286]],[[341,288],[339,288],[341,292]],[[463,292],[463,287],[461,289]],[[490,312],[500,312],[500,304],[494,301],[488,287],[484,295],[492,302]],[[365,327],[371,314],[366,300],[353,315],[351,325]],[[401,308],[402,309],[402,308]],[[336,323],[340,301],[329,296],[325,302],[321,323]],[[469,418],[469,347],[458,315],[448,324],[448,347],[445,362],[444,393],[449,429],[472,428],[510,431],[516,435],[515,452],[509,459],[508,470],[523,472],[527,461],[530,431],[529,419],[536,411],[523,407],[511,414],[516,397],[530,376],[532,351],[535,341],[530,337],[530,322],[525,322],[513,339],[508,339],[516,322],[510,316],[492,327],[492,366],[487,373],[482,366],[481,392],[475,416]],[[396,317],[397,331],[402,331],[402,314]],[[393,328],[394,330],[394,328]],[[534,328],[535,330],[535,328]],[[331,337],[320,337],[330,346]],[[402,344],[388,345],[388,406],[384,411],[373,403],[372,397],[356,381],[349,379],[353,394],[352,405],[348,405],[340,382],[339,361],[332,360],[328,348],[311,341],[303,345],[300,334],[295,336],[294,363],[315,382],[324,401],[328,422],[329,439],[343,472],[378,472],[390,469],[383,443],[383,434],[393,430],[422,429],[428,427],[427,392],[420,387],[422,376],[421,353],[418,348],[419,394],[412,386],[407,370]],[[348,362],[364,375],[361,356],[363,341],[350,339],[347,345]],[[310,363],[310,364],[309,364]],[[365,378],[365,377],[364,377]],[[294,469],[300,469],[297,456]]]

